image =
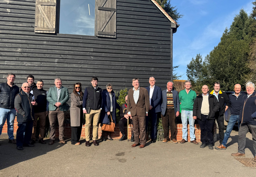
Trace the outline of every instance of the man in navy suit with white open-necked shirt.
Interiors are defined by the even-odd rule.
[[[154,77],[149,78],[150,86],[146,87],[148,95],[149,95],[149,112],[146,117],[146,132],[148,121],[151,120],[151,143],[156,142],[156,134],[157,134],[157,113],[161,112],[161,98],[162,92],[161,88],[156,86],[156,80]]]

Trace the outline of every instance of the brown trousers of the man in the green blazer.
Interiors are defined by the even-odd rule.
[[[49,122],[50,122],[50,139],[55,140],[55,129],[56,129],[56,119],[58,117],[59,122],[59,140],[64,139],[64,111],[57,108],[55,111],[49,111]]]

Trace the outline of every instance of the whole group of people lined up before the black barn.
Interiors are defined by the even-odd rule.
[[[56,78],[54,87],[49,91],[43,89],[44,82],[38,80],[34,83],[34,76],[28,75],[27,82],[22,84],[21,90],[14,84],[15,74],[7,75],[7,82],[0,84],[0,135],[7,120],[9,143],[17,144],[18,150],[23,147],[33,147],[36,137],[37,119],[39,120],[39,143],[44,141],[45,120],[49,114],[50,142],[55,142],[56,120],[59,123],[60,143],[66,144],[64,140],[64,111],[67,111],[69,92],[67,87],[62,86],[61,78]],[[216,149],[226,149],[227,141],[234,124],[238,121],[239,138],[238,153],[232,156],[245,156],[245,136],[250,130],[253,136],[253,147],[256,156],[256,92],[254,83],[246,84],[247,95],[241,93],[241,85],[234,86],[234,93],[229,97],[220,90],[220,83],[214,83],[214,90],[209,92],[207,85],[202,86],[202,94],[196,95],[191,90],[191,82],[185,81],[185,89],[179,93],[173,89],[173,82],[167,83],[167,89],[155,85],[154,77],[149,78],[149,86],[140,87],[138,78],[132,80],[133,88],[128,91],[125,97],[125,104],[121,107],[116,102],[113,85],[108,83],[106,89],[98,86],[98,78],[92,77],[91,85],[82,92],[82,84],[74,83],[71,93],[70,122],[71,122],[71,144],[80,145],[82,125],[85,124],[86,146],[90,146],[90,126],[93,124],[92,144],[98,146],[98,126],[103,124],[116,123],[116,109],[120,110],[121,120],[119,121],[122,137],[119,141],[126,140],[125,125],[128,121],[133,124],[131,147],[145,147],[146,130],[148,122],[151,121],[151,143],[156,142],[157,136],[157,115],[161,114],[164,129],[163,143],[171,141],[178,143],[175,136],[175,119],[181,112],[182,119],[182,141],[188,141],[188,127],[190,142],[198,144],[195,137],[194,122],[197,119],[201,129],[200,148],[208,146],[213,149],[213,129],[215,120],[219,128],[220,145]],[[227,130],[224,133],[224,113],[230,108],[230,119]],[[181,111],[180,111],[181,110]],[[18,130],[16,142],[13,136],[13,123],[17,111]],[[84,120],[85,114],[85,120]],[[93,122],[92,122],[93,121]],[[170,129],[170,137],[168,135]],[[110,132],[102,131],[102,141],[113,140]],[[254,158],[256,160],[256,157]]]

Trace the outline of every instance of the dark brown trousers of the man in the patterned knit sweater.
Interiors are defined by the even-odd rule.
[[[169,132],[169,126],[170,126],[170,132],[171,132],[171,136],[170,139],[176,139],[175,138],[175,111],[174,109],[166,109],[165,115],[163,116],[161,114],[162,117],[162,124],[163,124],[163,128],[164,128],[164,138],[169,139],[168,137],[168,132]]]

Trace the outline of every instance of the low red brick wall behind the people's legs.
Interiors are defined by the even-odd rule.
[[[17,122],[17,119],[15,118],[14,120],[14,134],[16,134],[17,132],[17,129],[18,129],[18,122]],[[82,127],[82,133],[81,133],[81,138],[85,138],[85,134],[84,134],[84,125]],[[125,128],[125,132],[126,132],[126,135],[127,135],[127,127]],[[177,141],[181,141],[182,140],[182,124],[176,124],[176,140]],[[5,122],[4,126],[3,126],[3,130],[2,130],[2,133],[7,133],[7,123]],[[200,141],[200,133],[201,133],[201,130],[200,130],[200,126],[199,124],[195,124],[195,135],[196,135],[196,141],[197,142],[201,142]],[[170,132],[169,132],[170,134]],[[189,135],[189,125],[188,125],[188,142],[190,142],[190,135]],[[56,127],[56,138],[58,138],[59,136],[59,128]],[[66,123],[65,124],[65,132],[64,132],[64,136],[65,138],[70,138],[71,137],[71,126],[69,123]],[[111,135],[110,135],[113,139],[119,139],[122,137],[122,134],[120,132],[120,129],[119,129],[119,124],[116,125],[115,127],[115,131],[114,132],[111,132]],[[92,137],[92,125],[91,125],[91,129],[90,129],[90,138]],[[98,129],[98,137],[100,138],[101,137],[101,124],[99,124],[99,129]],[[129,138],[131,137],[131,127],[129,126]],[[148,137],[148,136],[147,136]],[[217,129],[216,129],[216,124],[214,125],[214,142],[217,141]]]

